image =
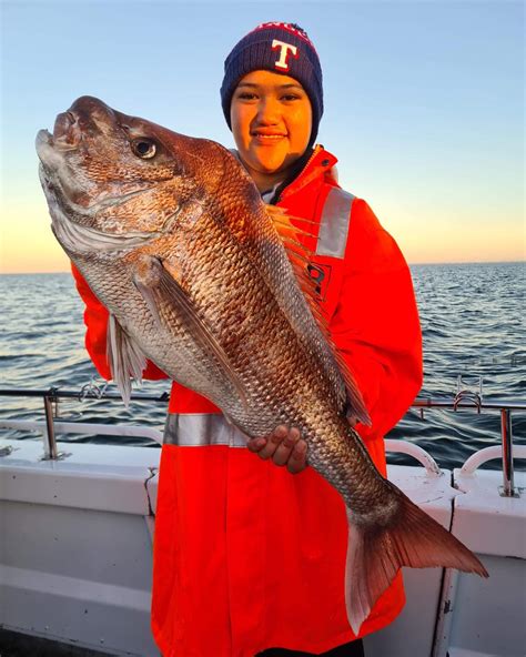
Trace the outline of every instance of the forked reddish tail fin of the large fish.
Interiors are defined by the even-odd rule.
[[[382,527],[361,524],[347,509],[345,605],[356,635],[402,566],[441,566],[488,577],[485,567],[463,543],[398,491],[397,502],[398,509]]]

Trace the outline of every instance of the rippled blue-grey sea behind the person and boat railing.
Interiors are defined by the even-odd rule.
[[[415,265],[412,267],[424,333],[422,397],[452,398],[457,377],[463,388],[485,401],[526,397],[526,309],[524,263]],[[80,391],[97,372],[83,347],[83,305],[69,274],[0,276],[1,388]],[[396,319],[393,317],[393,322]],[[146,382],[142,392],[169,391],[168,382]],[[109,386],[108,390],[114,390]],[[63,420],[143,424],[162,428],[166,404],[64,401]],[[42,402],[0,396],[0,417],[43,420]],[[416,442],[442,467],[459,466],[473,452],[499,444],[498,412],[411,410],[388,437]],[[526,444],[526,414],[513,415],[517,444]],[[16,432],[3,437],[28,437]],[[74,441],[133,443],[142,438],[71,437]],[[391,457],[394,463],[411,463]],[[498,467],[494,462],[490,467]],[[520,467],[520,462],[516,463]]]

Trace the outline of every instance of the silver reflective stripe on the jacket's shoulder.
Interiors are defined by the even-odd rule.
[[[323,205],[316,255],[343,257],[347,243],[351,206],[354,196],[340,188],[332,188]]]

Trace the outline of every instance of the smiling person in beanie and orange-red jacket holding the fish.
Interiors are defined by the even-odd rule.
[[[308,273],[372,418],[356,431],[385,474],[383,436],[422,383],[418,316],[396,243],[363,200],[338,186],[336,158],[314,145],[323,88],[307,34],[290,23],[255,28],[225,61],[221,100],[236,155],[264,201],[314,233],[301,237],[313,252]],[[109,377],[108,313],[75,277],[87,302],[87,346]],[[162,373],[149,365],[145,376]],[[164,657],[363,655],[345,611],[345,506],[307,458],[297,428],[276,427],[246,445],[213,404],[173,383],[152,604]],[[403,605],[398,575],[361,636]]]

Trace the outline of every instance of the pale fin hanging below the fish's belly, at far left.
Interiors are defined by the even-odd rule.
[[[142,372],[146,366],[146,358],[111,313],[108,322],[107,356],[113,381],[128,407],[131,396],[131,378],[142,383]]]

